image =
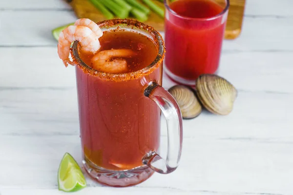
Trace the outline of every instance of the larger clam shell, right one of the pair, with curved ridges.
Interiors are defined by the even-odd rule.
[[[229,81],[217,75],[204,74],[197,78],[195,87],[199,100],[209,112],[230,114],[237,90]]]

